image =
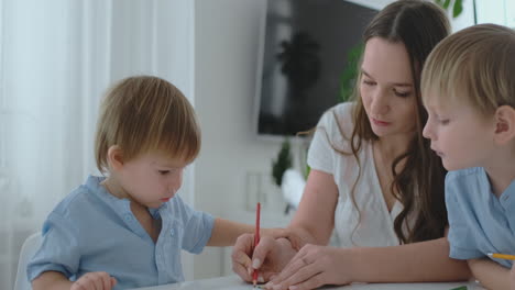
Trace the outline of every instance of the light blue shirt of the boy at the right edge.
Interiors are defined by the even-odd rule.
[[[497,198],[483,168],[450,171],[446,177],[446,205],[451,258],[515,255],[515,181]],[[511,260],[493,260],[512,267]]]

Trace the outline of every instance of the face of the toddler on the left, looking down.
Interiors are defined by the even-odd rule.
[[[123,190],[147,208],[158,208],[179,190],[187,163],[150,153],[123,164],[119,171]]]

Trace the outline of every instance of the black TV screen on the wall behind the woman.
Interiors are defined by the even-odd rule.
[[[258,81],[258,133],[292,136],[341,101],[351,52],[377,10],[344,0],[269,0]],[[352,69],[354,69],[352,67]],[[355,69],[354,69],[355,70]],[[261,86],[260,86],[261,85]]]

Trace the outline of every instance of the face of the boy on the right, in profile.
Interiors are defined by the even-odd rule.
[[[494,150],[495,123],[467,102],[428,96],[428,120],[423,134],[447,170],[483,167]],[[445,103],[443,103],[445,102]]]

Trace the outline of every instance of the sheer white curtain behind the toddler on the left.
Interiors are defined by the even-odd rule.
[[[152,74],[194,102],[194,52],[191,0],[0,0],[0,289],[13,287],[24,238],[97,174],[108,86]],[[193,170],[182,190],[190,203]]]

